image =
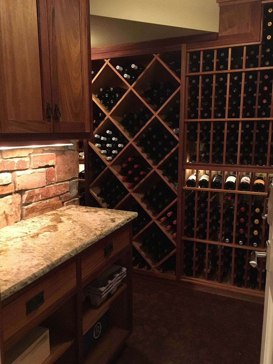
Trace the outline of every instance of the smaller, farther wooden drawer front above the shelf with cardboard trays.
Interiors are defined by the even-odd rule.
[[[129,226],[125,225],[96,242],[82,255],[82,278],[130,244]]]

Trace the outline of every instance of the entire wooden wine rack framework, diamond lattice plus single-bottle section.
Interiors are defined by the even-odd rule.
[[[268,7],[268,1],[263,6]],[[261,27],[262,29],[262,27]],[[263,198],[263,208],[264,212],[266,209],[265,198],[267,194],[267,187],[269,183],[269,179],[273,175],[273,167],[270,166],[270,156],[272,155],[273,146],[272,146],[272,123],[273,123],[273,107],[269,108],[269,115],[266,117],[260,116],[260,98],[259,98],[259,85],[261,84],[261,78],[265,74],[265,72],[270,77],[270,85],[273,87],[272,76],[273,76],[273,67],[262,67],[262,35],[261,41],[252,42],[252,43],[240,43],[240,44],[221,44],[218,45],[217,41],[206,41],[204,44],[201,42],[198,43],[198,46],[194,48],[193,43],[191,44],[180,44],[180,45],[172,45],[172,46],[158,46],[158,52],[153,48],[153,53],[149,54],[147,49],[143,50],[143,54],[141,54],[140,49],[128,51],[124,50],[122,52],[117,51],[116,53],[111,48],[109,51],[112,54],[112,58],[104,58],[104,59],[94,59],[92,60],[92,70],[94,70],[94,76],[92,80],[92,93],[93,93],[93,112],[103,112],[105,117],[103,121],[99,124],[99,126],[95,129],[94,134],[104,133],[107,129],[118,131],[122,133],[122,135],[128,140],[127,145],[123,148],[123,150],[112,160],[107,161],[104,158],[104,155],[100,153],[100,151],[95,147],[95,138],[91,138],[89,141],[89,153],[95,154],[98,158],[102,160],[102,162],[106,165],[105,169],[102,173],[100,173],[95,178],[89,179],[90,182],[90,194],[91,194],[91,204],[93,203],[99,205],[103,208],[106,207],[106,204],[102,202],[102,199],[97,196],[97,193],[103,186],[103,183],[108,181],[109,178],[116,178],[117,182],[123,183],[121,181],[120,175],[117,173],[120,165],[123,161],[126,160],[131,155],[139,155],[143,158],[143,161],[150,166],[152,169],[149,174],[142,179],[141,182],[138,183],[133,189],[128,188],[127,183],[123,183],[124,188],[126,189],[125,197],[115,206],[115,209],[130,209],[132,205],[138,204],[141,209],[143,209],[147,217],[149,218],[149,222],[145,227],[143,227],[137,234],[133,237],[133,245],[134,248],[142,255],[143,259],[146,260],[148,269],[133,269],[135,273],[141,273],[147,276],[154,277],[163,277],[169,280],[176,280],[180,282],[189,283],[192,287],[197,285],[207,286],[209,288],[222,289],[226,291],[233,291],[237,293],[244,293],[250,296],[262,297],[264,295],[264,285],[265,285],[265,261],[260,260],[260,264],[258,266],[258,278],[257,278],[257,287],[255,289],[250,288],[249,283],[249,275],[250,275],[250,266],[249,266],[249,258],[252,250],[264,251],[265,249],[265,241],[266,241],[266,223],[263,220],[261,223],[261,245],[257,248],[251,245],[251,213],[252,213],[252,203],[257,196]],[[256,47],[257,49],[257,64],[252,68],[248,68],[248,47]],[[273,48],[273,47],[272,47]],[[225,50],[227,52],[226,58],[226,69],[218,70],[218,55],[219,51]],[[203,57],[206,52],[212,52],[213,54],[213,62],[212,69],[210,71],[204,71],[202,69]],[[196,72],[190,72],[190,57],[191,54],[198,54],[200,57],[199,61],[199,69]],[[241,60],[242,67],[233,69],[233,55],[239,54],[239,59]],[[168,66],[168,60],[177,60],[181,59],[181,77],[178,77]],[[126,79],[119,74],[116,70],[115,66],[117,64],[130,64],[131,63],[139,63],[145,66],[145,70],[139,76],[139,78],[130,85],[127,83]],[[255,95],[256,102],[253,111],[253,115],[251,118],[245,118],[244,116],[244,86],[246,81],[246,75],[249,73],[255,75],[255,86],[257,87]],[[240,112],[235,118],[230,118],[229,116],[229,100],[230,100],[230,89],[231,89],[231,80],[232,75],[239,75],[241,79],[240,82]],[[215,108],[215,90],[217,89],[217,77],[224,76],[225,81],[225,108],[224,115],[221,117],[214,117],[216,115]],[[197,117],[190,118],[188,116],[188,100],[189,100],[189,82],[192,78],[196,78],[199,82],[199,85],[202,85],[204,77],[211,77],[211,117],[210,118],[202,118],[202,89],[203,87],[198,88],[198,108],[197,108]],[[153,108],[142,98],[140,91],[145,89],[147,82],[155,82],[155,81],[172,81],[177,85],[176,90],[170,96],[170,98],[162,105],[159,110],[153,110]],[[98,102],[98,99],[94,97],[95,94],[99,93],[99,88],[104,87],[115,87],[119,86],[126,89],[125,94],[119,100],[119,102],[115,105],[115,107],[109,112],[107,111],[102,104]],[[270,91],[271,98],[273,98],[273,92]],[[163,121],[162,115],[165,113],[167,108],[172,106],[175,102],[176,98],[180,98],[180,127],[179,127],[179,138],[174,134],[173,130],[168,126],[166,122]],[[271,99],[271,105],[273,104],[273,99]],[[139,107],[142,105],[146,106],[151,112],[152,117],[147,122],[145,126],[135,135],[135,137],[131,138],[126,131],[123,130],[122,126],[119,124],[119,121],[122,119],[123,114],[126,112],[137,112]],[[217,164],[213,162],[213,135],[215,123],[222,122],[223,127],[223,163]],[[230,165],[226,161],[226,153],[228,151],[228,138],[227,134],[229,132],[229,124],[233,122],[236,123],[237,127],[237,146],[238,150],[236,151],[237,162],[234,165]],[[240,148],[244,140],[241,139],[242,131],[245,126],[245,123],[252,122],[253,123],[253,141],[252,141],[252,163],[248,166],[240,165],[240,157],[241,151]],[[257,145],[256,131],[260,123],[267,123],[268,125],[268,151],[266,154],[266,165],[265,166],[257,166],[254,165],[255,158],[255,147]],[[191,142],[187,140],[188,135],[188,126],[190,123],[197,124],[197,140],[196,142]],[[210,160],[209,163],[201,163],[197,160],[196,163],[189,163],[189,157],[194,153],[199,155],[199,147],[201,144],[200,141],[200,133],[201,133],[201,124],[202,123],[210,123]],[[137,146],[136,141],[138,138],[141,138],[141,135],[145,130],[147,130],[148,126],[161,126],[166,129],[166,132],[169,133],[174,141],[177,142],[173,150],[170,151],[166,155],[165,158],[162,159],[157,165],[153,165],[150,159],[147,159],[146,155],[142,152],[142,150]],[[178,178],[178,191],[174,188],[174,185],[167,181],[167,179],[162,175],[162,166],[166,163],[171,157],[174,155],[179,155],[179,178]],[[215,174],[222,172],[223,174],[223,182],[222,188],[219,190],[215,190],[211,188],[211,181]],[[201,177],[203,173],[209,174],[209,188],[201,189],[198,187],[198,178],[196,181],[195,187],[186,187],[187,178],[192,173],[197,173],[197,177]],[[236,189],[232,191],[227,191],[224,189],[224,183],[226,177],[232,173],[236,172]],[[240,182],[241,176],[245,173],[250,173],[251,176],[251,186],[250,191],[240,191],[238,190],[238,183]],[[253,181],[257,174],[262,173],[265,177],[265,191],[263,193],[257,193],[252,190]],[[149,190],[151,186],[154,185],[156,181],[162,180],[166,183],[169,188],[170,196],[172,197],[172,202],[169,206],[167,206],[163,211],[161,211],[158,215],[153,215],[151,211],[146,207],[145,204],[142,203],[141,197],[143,194]],[[190,191],[195,191],[195,208],[194,208],[194,236],[187,237],[184,236],[184,227],[185,218],[187,213],[187,195]],[[208,206],[207,206],[207,218],[206,219],[206,239],[198,239],[197,238],[197,228],[198,228],[198,196],[202,191],[208,192]],[[225,212],[225,197],[227,193],[234,194],[234,230],[233,230],[233,241],[231,243],[223,242],[223,232],[224,232],[224,212]],[[215,197],[217,196],[217,197]],[[246,232],[246,244],[238,245],[236,240],[237,234],[237,207],[241,201],[242,196],[244,199],[247,199],[249,211],[248,211],[248,221],[247,221],[247,232]],[[221,218],[219,221],[219,233],[218,238],[216,240],[211,239],[209,229],[210,229],[210,209],[213,205],[213,200],[217,199],[218,203],[221,205]],[[163,225],[160,222],[160,217],[164,215],[168,210],[170,210],[173,206],[177,206],[177,237],[174,239],[170,233],[168,233]],[[139,248],[141,245],[142,237],[145,234],[150,234],[154,230],[159,229],[164,236],[166,236],[170,242],[173,244],[173,250],[169,253],[162,261],[157,262],[156,264],[152,264],[149,258],[146,257],[145,253]],[[192,252],[193,259],[193,272],[192,274],[185,273],[185,249],[190,249]],[[202,261],[202,265],[200,266],[198,262],[198,249],[201,249],[204,258]],[[225,249],[225,251],[224,251]],[[244,283],[238,287],[236,285],[236,272],[237,272],[237,256],[240,252],[245,252],[244,255]],[[217,270],[215,274],[212,276],[210,271],[210,259],[213,256],[217,257]],[[226,254],[226,255],[225,255]],[[168,260],[170,257],[176,256],[176,275],[173,275],[172,271],[168,271],[165,273],[159,273],[159,267],[162,262]],[[227,259],[227,257],[230,257]],[[225,259],[229,262],[228,273],[224,276],[222,272],[222,266],[225,262]]]

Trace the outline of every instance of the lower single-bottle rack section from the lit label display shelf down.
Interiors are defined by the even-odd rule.
[[[183,187],[185,217],[182,239],[183,254],[186,254],[183,257],[183,274],[186,277],[261,290],[262,285],[259,282],[251,283],[252,280],[255,282],[257,277],[253,278],[254,272],[250,278],[249,250],[262,251],[265,247],[268,231],[261,215],[265,211],[265,191],[272,175],[212,170],[188,170],[188,174]],[[199,265],[197,269],[194,268],[193,262],[201,262],[201,258],[198,251],[194,256],[194,249],[197,249],[202,241],[202,244],[207,245],[206,249],[209,252],[210,246],[214,245],[215,254],[211,262],[206,263],[206,259],[202,260],[204,269],[199,269]],[[225,249],[228,250],[226,254]],[[246,254],[248,259],[243,264],[238,263],[242,266],[237,272],[238,251],[242,251],[244,256]],[[263,264],[261,261],[258,274],[264,269]],[[210,266],[214,267],[214,274],[211,274]]]

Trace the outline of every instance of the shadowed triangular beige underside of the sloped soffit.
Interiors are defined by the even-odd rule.
[[[194,29],[169,27],[124,19],[90,15],[91,47],[112,46],[145,40],[204,33]]]

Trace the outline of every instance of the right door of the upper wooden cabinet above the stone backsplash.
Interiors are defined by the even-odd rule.
[[[54,132],[89,132],[89,0],[47,0]]]

